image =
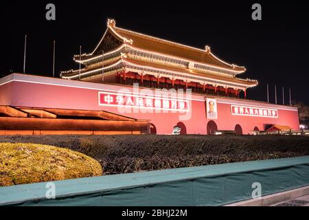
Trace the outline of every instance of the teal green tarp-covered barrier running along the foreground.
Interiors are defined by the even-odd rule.
[[[14,206],[221,206],[309,185],[309,157],[270,159],[144,173],[54,181],[0,188],[0,205]]]

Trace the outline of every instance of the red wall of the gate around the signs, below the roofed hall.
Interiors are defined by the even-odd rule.
[[[192,107],[190,120],[179,120],[184,113],[120,113],[117,107],[105,107],[98,104],[98,91],[110,89],[117,91],[123,86],[87,83],[73,80],[46,78],[23,74],[12,74],[10,78],[0,79],[0,104],[17,107],[46,107],[58,109],[104,110],[127,115],[141,120],[150,120],[157,133],[172,133],[178,122],[185,124],[187,133],[207,133],[205,96],[193,95],[190,100]],[[126,87],[132,91],[132,87]],[[213,97],[214,98],[214,97]],[[244,134],[253,131],[255,126],[264,130],[265,124],[288,125],[294,130],[299,129],[297,108],[250,102],[246,100],[216,98],[218,102],[218,120],[214,120],[219,130],[234,130],[236,124],[242,126]],[[278,109],[278,118],[260,118],[252,116],[231,115],[231,104],[254,105]]]

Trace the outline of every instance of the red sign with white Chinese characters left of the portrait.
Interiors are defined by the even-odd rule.
[[[99,92],[99,104],[113,107],[189,111],[187,100],[148,95],[117,94],[111,92]]]

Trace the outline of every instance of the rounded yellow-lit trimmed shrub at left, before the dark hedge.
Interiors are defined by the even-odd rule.
[[[102,175],[100,164],[69,149],[0,143],[0,186]]]

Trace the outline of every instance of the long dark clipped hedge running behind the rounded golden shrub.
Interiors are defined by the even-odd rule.
[[[309,155],[309,137],[284,135],[4,136],[0,142],[70,148],[97,159],[105,174]]]

